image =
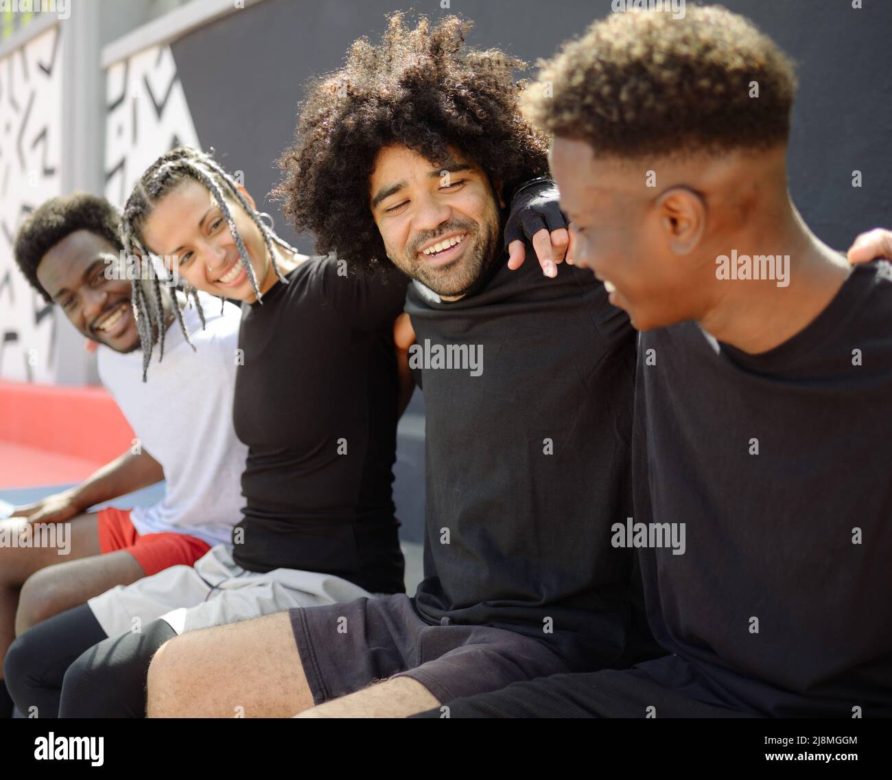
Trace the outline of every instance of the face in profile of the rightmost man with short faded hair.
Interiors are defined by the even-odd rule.
[[[599,159],[584,141],[558,137],[549,154],[574,258],[604,281],[610,303],[639,330],[688,319],[690,261],[671,251],[672,203],[648,187],[647,164]]]

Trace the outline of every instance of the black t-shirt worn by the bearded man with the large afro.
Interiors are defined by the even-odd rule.
[[[500,258],[483,288],[455,303],[409,286],[406,311],[425,347],[415,603],[431,624],[508,628],[582,670],[641,655],[635,558],[610,544],[611,523],[632,509],[635,336],[591,271],[558,268],[549,279],[535,261],[511,271]],[[434,368],[438,345],[467,347],[467,365],[474,348],[479,375]]]

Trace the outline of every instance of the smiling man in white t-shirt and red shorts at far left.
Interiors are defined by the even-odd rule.
[[[0,548],[0,661],[20,636],[13,645],[19,650],[6,656],[4,700],[6,685],[14,692],[23,682],[16,679],[23,662],[37,676],[50,663],[33,643],[21,641],[31,626],[57,615],[62,625],[77,626],[78,638],[91,644],[129,631],[129,620],[116,623],[103,612],[94,614],[85,602],[162,569],[191,566],[211,546],[230,543],[240,515],[239,476],[247,450],[231,422],[240,312],[231,304],[222,311],[210,306],[202,323],[194,309],[184,311],[194,347],[179,328],[170,329],[164,360],[144,385],[128,278],[133,274],[120,263],[121,249],[120,214],[103,198],[85,193],[43,203],[15,238],[15,260],[31,286],[99,345],[100,378],[139,446],[79,485],[0,521],[6,534],[15,535],[37,524],[65,523],[71,539],[64,557],[55,548]],[[169,328],[174,320],[172,311],[165,312],[156,337],[161,325]],[[90,510],[165,478],[164,494],[152,506]],[[33,703],[38,713],[51,709],[39,696]],[[8,717],[12,702],[4,701],[3,709]]]

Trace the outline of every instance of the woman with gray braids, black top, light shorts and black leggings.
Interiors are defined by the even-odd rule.
[[[166,577],[146,577],[143,587],[103,593],[70,610],[79,610],[76,620],[62,613],[61,621],[19,637],[28,651],[19,648],[18,658],[36,667],[18,670],[16,703],[22,711],[37,706],[41,718],[65,715],[67,700],[61,711],[59,702],[67,664],[47,658],[63,647],[75,657],[77,636],[110,638],[83,647],[71,668],[115,663],[123,688],[103,693],[100,686],[71,703],[97,715],[142,717],[149,660],[176,634],[297,605],[404,592],[391,485],[401,389],[392,332],[406,278],[396,270],[348,274],[334,257],[297,253],[260,219],[244,187],[189,148],[146,170],[121,232],[128,255],[160,256],[178,273],[202,321],[197,290],[243,304],[232,355],[235,433],[248,447],[243,519],[232,546],[211,548],[194,568],[170,568]],[[189,338],[182,296],[151,276],[133,286],[144,381],[153,353],[163,359],[171,316]],[[144,624],[136,635],[133,618]],[[95,631],[69,630],[84,621]],[[129,639],[136,639],[132,652]],[[112,697],[127,700],[128,709],[111,707]]]

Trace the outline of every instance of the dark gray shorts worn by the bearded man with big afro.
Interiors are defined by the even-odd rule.
[[[411,677],[445,703],[568,671],[544,644],[491,626],[432,626],[409,596],[288,610],[313,701],[393,676]]]

